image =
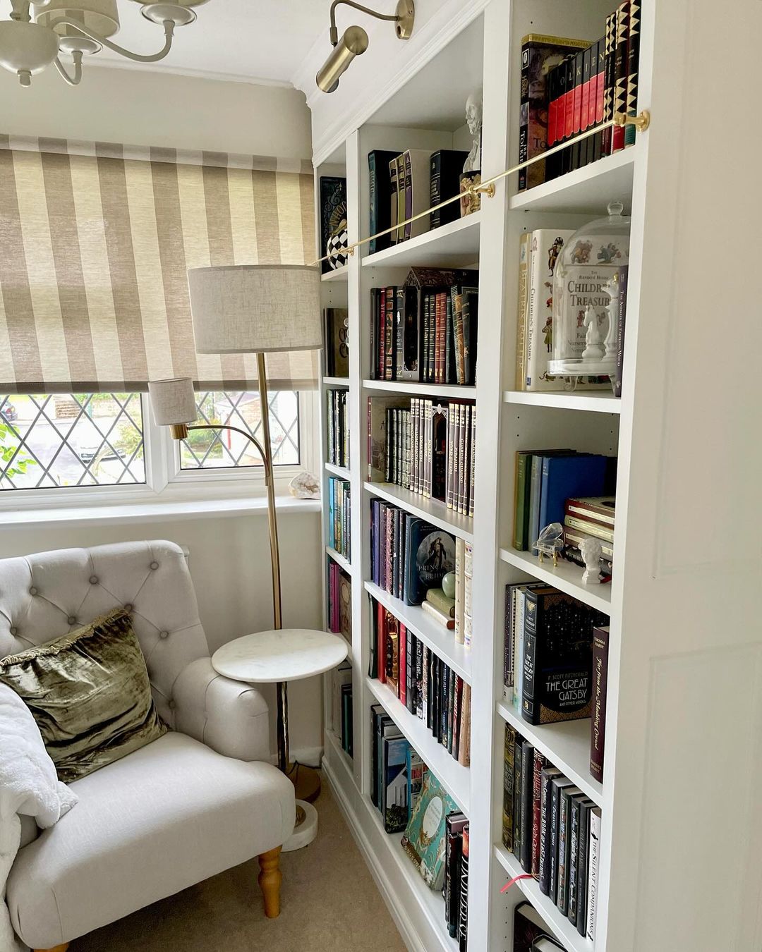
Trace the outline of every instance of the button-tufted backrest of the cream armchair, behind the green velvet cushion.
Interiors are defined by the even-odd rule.
[[[209,656],[191,573],[174,543],[117,543],[0,559],[0,658],[60,638],[118,605],[130,608],[156,706],[174,726],[174,681],[191,661]]]

